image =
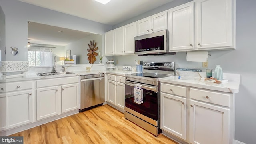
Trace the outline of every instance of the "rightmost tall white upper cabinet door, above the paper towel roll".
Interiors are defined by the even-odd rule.
[[[196,4],[198,49],[232,46],[232,0],[198,0]]]

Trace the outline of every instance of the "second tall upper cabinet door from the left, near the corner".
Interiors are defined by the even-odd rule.
[[[124,27],[114,29],[114,55],[124,54]]]

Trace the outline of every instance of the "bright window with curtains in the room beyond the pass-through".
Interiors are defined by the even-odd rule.
[[[51,66],[52,50],[50,48],[28,48],[29,66]]]

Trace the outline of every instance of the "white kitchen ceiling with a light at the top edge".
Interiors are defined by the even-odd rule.
[[[115,25],[174,0],[19,0],[95,22]]]

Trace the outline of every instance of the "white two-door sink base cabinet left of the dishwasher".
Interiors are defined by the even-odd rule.
[[[36,81],[36,119],[79,109],[79,77]]]

